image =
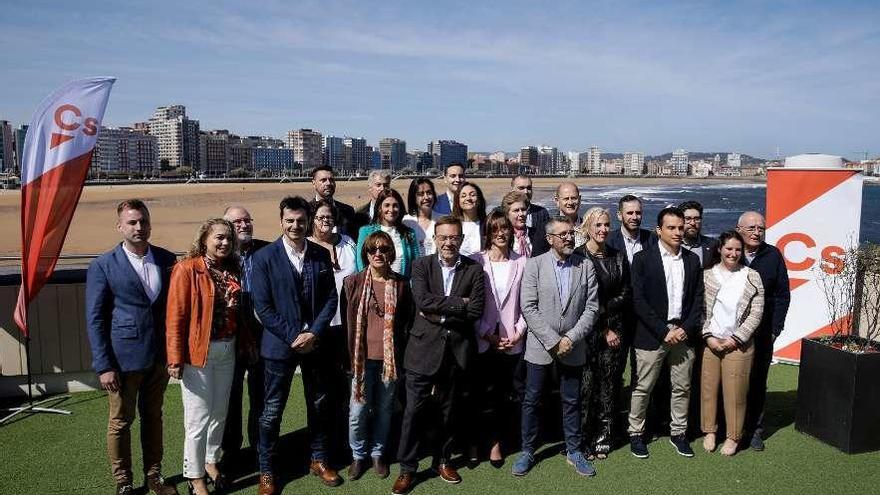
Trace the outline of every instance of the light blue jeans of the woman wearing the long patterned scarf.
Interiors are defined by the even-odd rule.
[[[366,459],[367,454],[381,457],[391,429],[396,382],[382,382],[382,361],[368,359],[364,363],[364,403],[354,400],[354,380],[351,383],[351,403],[348,413],[348,444],[355,459]],[[368,452],[369,451],[369,452]]]

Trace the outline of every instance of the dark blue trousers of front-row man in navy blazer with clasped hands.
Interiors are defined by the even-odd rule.
[[[281,415],[290,395],[293,373],[299,366],[302,372],[306,399],[306,421],[311,438],[312,459],[328,460],[327,438],[331,428],[330,401],[321,355],[313,351],[289,360],[264,359],[265,401],[260,416],[260,472],[274,473]]]

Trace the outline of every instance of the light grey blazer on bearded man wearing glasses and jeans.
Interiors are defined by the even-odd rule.
[[[529,327],[525,360],[552,363],[557,356],[550,349],[567,336],[574,346],[558,359],[568,366],[582,366],[587,359],[585,338],[593,331],[599,313],[596,273],[592,262],[572,254],[568,300],[560,301],[555,264],[552,250],[526,262],[520,288],[520,304]]]

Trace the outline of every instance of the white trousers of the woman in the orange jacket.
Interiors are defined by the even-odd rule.
[[[202,478],[205,463],[220,461],[229,390],[235,372],[235,339],[211,341],[204,368],[184,365],[183,476]]]

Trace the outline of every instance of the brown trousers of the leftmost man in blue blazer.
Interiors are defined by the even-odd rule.
[[[162,404],[168,372],[163,364],[154,364],[145,370],[117,374],[119,389],[107,392],[107,452],[116,482],[131,483],[131,425],[136,414],[141,418],[144,474],[158,475],[162,469]]]

